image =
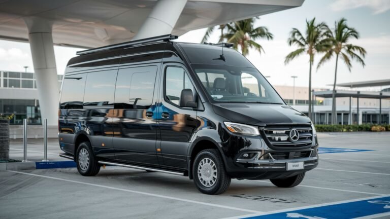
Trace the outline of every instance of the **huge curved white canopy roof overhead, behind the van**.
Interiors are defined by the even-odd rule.
[[[178,0],[180,1],[180,0]],[[304,0],[188,0],[172,34],[299,7]],[[100,47],[129,41],[156,1],[0,0],[0,39],[28,42],[24,17],[53,22],[55,45]]]

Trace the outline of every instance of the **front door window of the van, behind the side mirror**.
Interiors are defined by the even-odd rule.
[[[165,96],[167,100],[179,105],[183,89],[191,89],[193,94],[196,93],[187,73],[182,67],[167,67],[165,70]]]

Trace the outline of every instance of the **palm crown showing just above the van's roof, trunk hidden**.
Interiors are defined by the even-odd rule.
[[[253,23],[257,18],[249,18],[241,21],[236,21],[228,24],[219,25],[221,35],[219,42],[226,40],[228,43],[233,43],[236,50],[240,46],[241,53],[246,56],[249,54],[249,48],[254,48],[258,52],[264,51],[263,47],[255,42],[255,40],[266,38],[273,39],[273,34],[268,31],[267,27],[253,27]],[[206,42],[210,34],[215,30],[216,26],[209,27],[202,39],[202,43]],[[224,33],[224,31],[226,31]]]

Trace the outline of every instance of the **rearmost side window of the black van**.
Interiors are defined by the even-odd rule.
[[[85,79],[87,74],[65,76],[61,91],[61,109],[83,108]]]

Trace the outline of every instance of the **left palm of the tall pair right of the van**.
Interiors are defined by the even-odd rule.
[[[328,26],[324,23],[316,23],[315,18],[308,21],[306,20],[306,32],[303,35],[297,28],[293,28],[290,32],[290,36],[287,40],[288,45],[295,45],[297,50],[290,52],[285,60],[284,64],[288,64],[291,60],[302,54],[309,55],[309,111],[308,116],[311,119],[311,67],[314,61],[314,55],[317,52],[322,52],[329,47],[327,40]]]

